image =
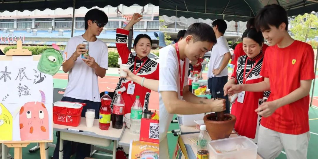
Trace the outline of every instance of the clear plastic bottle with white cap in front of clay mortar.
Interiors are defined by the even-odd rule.
[[[206,126],[200,125],[200,134],[198,136],[198,142],[197,142],[197,159],[209,159],[209,149],[208,149],[208,142],[209,142],[209,136],[205,132]]]

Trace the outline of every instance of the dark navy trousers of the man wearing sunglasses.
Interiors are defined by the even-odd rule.
[[[79,103],[86,103],[86,106],[83,107],[82,110],[82,117],[85,117],[86,109],[95,109],[95,118],[98,119],[99,116],[99,108],[100,102],[93,102],[90,100],[78,100],[70,97],[63,97],[61,101],[70,101],[70,102],[79,102]],[[58,137],[56,142],[56,147],[54,149],[53,157],[54,159],[59,158],[59,140],[60,140],[60,133],[56,132],[56,136]],[[85,157],[89,157],[91,155],[91,145],[85,143],[78,143],[78,142],[71,142],[64,140],[63,141],[63,159],[70,159],[72,156],[72,144],[77,144],[76,148],[76,157],[75,159],[84,159]]]

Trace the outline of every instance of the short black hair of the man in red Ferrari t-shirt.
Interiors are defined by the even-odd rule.
[[[288,18],[286,10],[277,4],[269,4],[262,8],[255,17],[255,27],[257,30],[270,29],[270,25],[278,28],[285,23],[285,30],[288,29]]]

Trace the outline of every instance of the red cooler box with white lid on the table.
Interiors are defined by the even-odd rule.
[[[54,124],[77,127],[79,126],[81,113],[85,103],[57,101],[53,105]]]

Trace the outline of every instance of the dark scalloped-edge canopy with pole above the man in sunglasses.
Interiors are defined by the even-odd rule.
[[[138,4],[140,6],[145,6],[147,4],[153,4],[159,6],[159,0],[121,0],[121,1],[105,1],[105,0],[0,0],[0,12],[3,11],[24,11],[24,10],[45,10],[51,9],[55,10],[57,8],[66,9],[68,7],[73,7],[73,22],[72,26],[74,26],[74,14],[75,9],[79,9],[80,7],[92,8],[94,6],[98,6],[100,8],[104,8],[107,5],[117,7],[120,4],[125,6],[131,6],[133,4]],[[72,35],[73,37],[73,29],[72,27]],[[128,48],[131,50],[132,43],[132,30],[128,36]]]

